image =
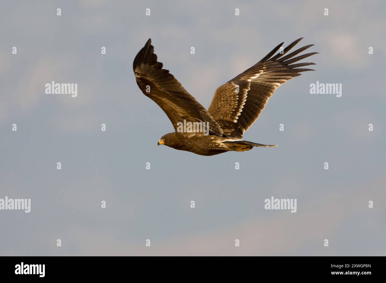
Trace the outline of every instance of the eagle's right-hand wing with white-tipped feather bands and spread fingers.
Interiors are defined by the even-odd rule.
[[[300,40],[301,38],[295,40],[282,49],[281,53],[273,56],[284,42],[279,44],[251,68],[218,87],[208,112],[220,124],[225,135],[241,138],[259,117],[269,97],[281,84],[301,75],[300,72],[311,70],[300,67],[315,65],[315,63],[293,64],[318,53],[312,52],[293,58],[313,44],[282,57]]]

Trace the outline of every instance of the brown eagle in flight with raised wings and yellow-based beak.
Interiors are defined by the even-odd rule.
[[[285,48],[282,42],[255,65],[218,87],[208,109],[197,102],[169,70],[163,69],[163,63],[158,62],[154,54],[151,39],[147,40],[133,62],[135,79],[143,94],[161,107],[174,127],[174,132],[159,139],[158,146],[164,144],[202,156],[248,151],[253,147],[276,147],[244,141],[242,135],[257,120],[280,85],[301,72],[313,71],[302,67],[315,63],[293,64],[317,54],[296,56],[313,44],[287,54],[301,39]]]

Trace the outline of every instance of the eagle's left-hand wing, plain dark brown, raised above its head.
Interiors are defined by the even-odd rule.
[[[194,99],[174,78],[169,70],[162,69],[153,53],[151,39],[135,56],[133,69],[142,92],[166,113],[177,131],[178,122],[209,122],[209,132],[223,136],[223,131],[208,111]]]

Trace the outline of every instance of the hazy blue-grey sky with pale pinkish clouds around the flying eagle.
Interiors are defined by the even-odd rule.
[[[1,256],[385,255],[383,1],[1,7],[0,199],[31,202],[0,210]],[[300,37],[296,47],[319,52],[302,61],[316,72],[279,87],[243,136],[278,147],[157,147],[173,126],[135,82],[147,39],[208,107],[217,87]],[[76,83],[77,96],[46,94],[52,81]],[[342,84],[342,96],[310,94],[317,81]],[[296,213],[265,209],[271,197],[296,199]]]

